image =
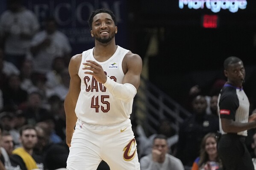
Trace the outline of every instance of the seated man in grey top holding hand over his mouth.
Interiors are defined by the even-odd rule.
[[[140,159],[141,170],[184,170],[182,162],[168,154],[167,137],[157,135],[153,140],[152,153]]]

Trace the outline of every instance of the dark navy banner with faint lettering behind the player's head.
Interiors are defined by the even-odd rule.
[[[100,8],[108,8],[114,12],[118,21],[116,42],[126,48],[125,6],[126,0],[26,0],[26,7],[35,13],[40,23],[47,16],[56,19],[59,30],[70,40],[73,55],[94,46],[87,20],[92,11]]]

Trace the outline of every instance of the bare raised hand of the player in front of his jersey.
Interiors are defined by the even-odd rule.
[[[107,77],[100,64],[91,60],[86,60],[86,63],[82,64],[84,65],[82,69],[85,70],[85,74],[92,75],[99,83],[106,83]]]

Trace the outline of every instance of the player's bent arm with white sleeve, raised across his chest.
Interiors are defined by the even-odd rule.
[[[122,62],[124,78],[121,84],[106,76],[102,66],[97,62],[87,60],[83,65],[85,65],[83,68],[83,70],[85,70],[84,73],[94,76],[94,78],[102,83],[115,98],[129,102],[136,95],[142,70],[142,60],[139,55],[128,52],[124,56]]]

